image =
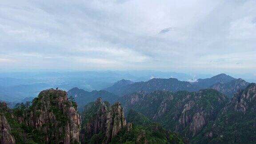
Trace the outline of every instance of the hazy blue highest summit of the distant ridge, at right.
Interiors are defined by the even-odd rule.
[[[228,83],[231,80],[235,80],[235,78],[233,78],[232,76],[228,76],[224,73],[219,74],[217,76],[213,76],[211,78],[207,78],[207,79],[198,79],[196,82],[193,82],[192,84],[199,87],[199,88],[209,88],[210,86],[212,86],[213,84],[216,83]]]

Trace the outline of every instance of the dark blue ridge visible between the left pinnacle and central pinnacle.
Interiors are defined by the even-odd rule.
[[[119,99],[119,96],[117,96],[116,94],[105,90],[94,90],[92,92],[87,92],[79,88],[72,88],[71,90],[69,90],[68,96],[73,96],[75,98],[75,101],[78,104],[79,111],[81,111],[86,104],[95,101],[98,97],[101,97],[103,100],[109,101],[111,104]]]

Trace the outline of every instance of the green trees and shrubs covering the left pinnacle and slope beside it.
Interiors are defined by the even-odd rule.
[[[63,93],[56,93],[55,91],[48,90],[41,92],[31,102],[18,103],[15,108],[9,109],[2,106],[4,103],[0,103],[0,114],[4,115],[8,120],[8,124],[11,127],[11,134],[15,137],[17,144],[43,144],[46,137],[49,142],[56,142],[63,140],[65,136],[65,124],[68,122],[68,117],[64,115],[63,111],[59,108],[60,100],[66,99]],[[72,100],[72,98],[70,98]],[[74,101],[64,102],[62,108],[74,106],[77,109],[77,104]],[[43,124],[41,129],[47,129],[47,133],[42,130],[36,130],[28,125],[28,122],[37,121],[39,117],[46,118],[50,112],[52,112],[54,121]],[[33,115],[33,116],[31,116]],[[19,120],[19,121],[18,121]],[[62,129],[62,132],[59,132]],[[74,141],[74,143],[76,143]]]

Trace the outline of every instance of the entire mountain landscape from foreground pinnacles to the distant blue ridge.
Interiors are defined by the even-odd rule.
[[[225,74],[51,88],[12,109],[0,102],[0,143],[252,144],[255,109],[256,84]]]

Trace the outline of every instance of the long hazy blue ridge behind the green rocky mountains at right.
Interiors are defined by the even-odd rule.
[[[106,88],[105,90],[108,92],[113,92],[119,96],[124,96],[131,94],[132,92],[139,91],[153,92],[155,90],[167,90],[171,92],[197,92],[200,89],[213,88],[231,98],[239,88],[243,89],[248,84],[248,82],[242,79],[235,79],[226,74],[219,74],[207,79],[198,79],[196,82],[180,81],[174,78],[153,78],[147,82],[136,82],[129,84],[129,82],[122,80],[122,82],[118,81],[113,86]]]

